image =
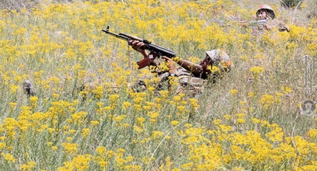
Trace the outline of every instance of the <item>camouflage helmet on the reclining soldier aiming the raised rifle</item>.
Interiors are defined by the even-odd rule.
[[[229,55],[220,49],[206,51],[206,58],[211,61],[211,66],[218,67],[222,72],[228,72],[231,70],[232,62]]]

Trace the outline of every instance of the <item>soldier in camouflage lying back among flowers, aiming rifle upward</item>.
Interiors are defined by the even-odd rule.
[[[147,58],[150,54],[145,51],[143,42],[130,40],[129,44],[134,50],[143,54],[144,58]],[[171,59],[166,56],[162,56],[162,58],[168,63],[169,72],[160,73],[159,77],[162,80],[166,80],[169,76],[177,77],[178,87],[176,93],[189,92],[193,96],[201,93],[204,82],[207,79],[211,79],[214,82],[217,77],[229,72],[232,67],[228,54],[219,49],[206,51],[206,56],[200,64],[180,60],[177,62],[180,67],[176,67],[175,62]],[[155,63],[152,65],[157,66]]]

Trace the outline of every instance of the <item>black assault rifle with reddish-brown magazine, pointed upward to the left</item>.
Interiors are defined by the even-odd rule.
[[[151,51],[151,53],[147,56],[147,58],[137,62],[139,69],[149,66],[155,60],[155,58],[159,58],[160,56],[167,56],[168,58],[173,58],[176,56],[175,52],[173,52],[172,50],[163,48],[161,46],[153,45],[151,44],[150,41],[147,41],[145,39],[141,39],[135,36],[130,36],[124,33],[119,33],[119,34],[111,33],[109,32],[109,25],[107,26],[106,30],[102,30],[102,31],[106,32],[107,34],[111,36],[114,36],[116,38],[119,38],[128,42],[130,40],[138,40],[145,44],[144,49]]]

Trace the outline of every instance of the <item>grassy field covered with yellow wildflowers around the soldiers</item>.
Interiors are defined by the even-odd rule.
[[[41,1],[0,11],[0,170],[317,170],[317,118],[300,112],[315,99],[316,18],[305,17],[307,4],[266,1],[289,33],[235,24],[254,20],[261,3]],[[158,80],[137,70],[142,56],[107,25],[196,63],[223,49],[234,67],[194,98],[155,92]],[[147,89],[136,93],[141,79]]]

